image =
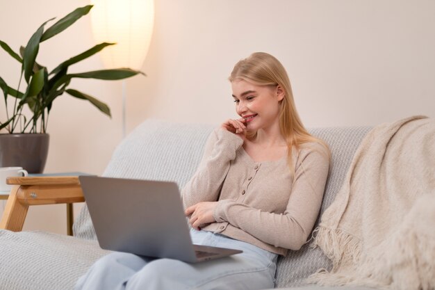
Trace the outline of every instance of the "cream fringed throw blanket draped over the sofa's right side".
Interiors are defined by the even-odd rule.
[[[309,282],[435,289],[435,120],[372,129],[315,232],[333,268]]]

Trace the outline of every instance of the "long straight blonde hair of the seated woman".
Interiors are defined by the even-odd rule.
[[[325,147],[325,152],[330,158],[327,144],[309,134],[304,124],[302,124],[296,111],[290,79],[288,79],[286,69],[277,58],[265,52],[251,54],[234,66],[229,81],[232,82],[236,79],[243,79],[257,86],[280,86],[284,90],[284,98],[279,103],[279,128],[281,136],[284,137],[288,146],[288,165],[292,175],[295,174],[292,160],[293,147],[295,147],[296,154],[298,154],[301,145],[304,143],[320,143]]]

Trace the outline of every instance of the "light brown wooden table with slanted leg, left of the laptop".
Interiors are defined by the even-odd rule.
[[[20,232],[26,220],[28,207],[39,204],[72,204],[84,202],[79,177],[8,177],[13,184],[6,203],[0,229]]]

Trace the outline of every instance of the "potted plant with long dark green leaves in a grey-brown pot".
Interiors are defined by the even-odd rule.
[[[19,54],[13,51],[6,42],[0,40],[1,48],[22,65],[18,88],[11,88],[0,77],[0,88],[3,92],[6,110],[6,114],[1,113],[1,119],[6,115],[6,120],[0,119],[0,131],[2,129],[7,131],[6,134],[0,134],[0,167],[22,166],[28,172],[42,172],[49,146],[49,135],[47,134],[49,113],[54,100],[63,95],[64,92],[72,97],[89,101],[90,104],[96,106],[101,112],[110,117],[110,108],[106,104],[84,92],[69,88],[71,79],[117,80],[143,74],[129,68],[97,70],[78,74],[68,73],[70,65],[97,54],[104,47],[114,45],[114,43],[106,42],[95,45],[95,47],[69,58],[51,71],[36,62],[40,42],[49,40],[64,31],[79,18],[87,15],[91,8],[91,5],[76,8],[76,10],[58,20],[47,30],[44,29],[44,26],[53,19],[44,22],[33,33],[26,47],[19,49]],[[24,86],[22,83],[24,83]],[[31,111],[30,116],[23,113],[26,106]]]

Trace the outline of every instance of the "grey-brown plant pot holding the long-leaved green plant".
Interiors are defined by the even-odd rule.
[[[49,152],[49,134],[0,134],[0,167],[20,166],[42,173]]]

